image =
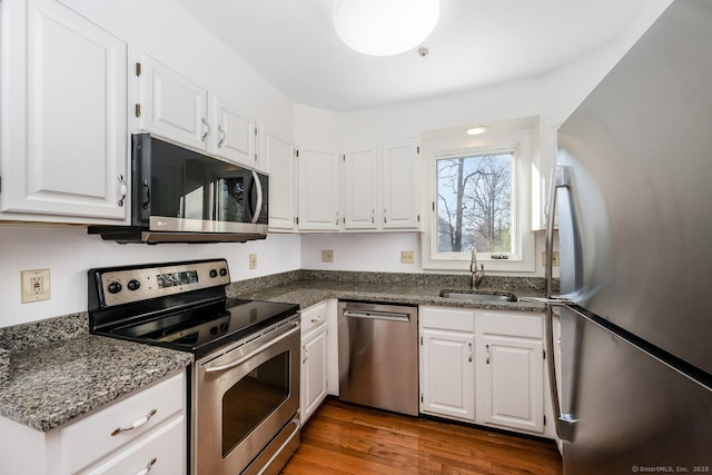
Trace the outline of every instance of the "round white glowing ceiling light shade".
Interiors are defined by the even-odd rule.
[[[421,44],[439,13],[439,0],[336,0],[334,28],[358,52],[393,56]]]

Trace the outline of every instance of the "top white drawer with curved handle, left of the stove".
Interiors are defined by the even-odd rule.
[[[61,429],[59,437],[61,473],[75,473],[158,427],[172,415],[184,412],[185,400],[186,384],[181,372],[69,424]],[[140,427],[111,435],[120,427],[138,425],[152,410],[156,413]]]

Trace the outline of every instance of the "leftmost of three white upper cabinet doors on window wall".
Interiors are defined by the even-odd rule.
[[[326,148],[301,147],[297,167],[299,230],[339,230],[338,154]]]

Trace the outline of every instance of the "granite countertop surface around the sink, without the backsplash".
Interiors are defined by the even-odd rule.
[[[285,301],[307,308],[326,298],[340,298],[362,301],[397,303],[409,305],[437,305],[463,308],[485,308],[491,310],[545,311],[541,301],[467,301],[439,296],[443,289],[464,289],[442,284],[393,284],[384,281],[334,281],[295,280],[273,287],[255,289],[235,295],[237,298],[253,300]],[[481,290],[502,290],[502,288],[482,288]],[[536,289],[506,289],[517,297],[543,297]]]

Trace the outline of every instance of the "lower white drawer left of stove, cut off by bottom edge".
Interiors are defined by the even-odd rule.
[[[186,418],[175,416],[146,438],[130,444],[119,453],[102,459],[82,475],[182,475],[186,473]]]

